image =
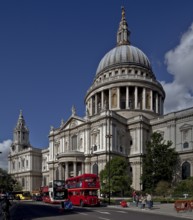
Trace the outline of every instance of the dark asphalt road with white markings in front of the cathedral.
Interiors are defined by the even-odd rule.
[[[11,220],[180,220],[181,218],[161,216],[151,210],[140,212],[108,207],[74,207],[71,211],[60,212],[59,205],[37,201],[19,201],[12,207]],[[182,220],[182,219],[181,219]]]

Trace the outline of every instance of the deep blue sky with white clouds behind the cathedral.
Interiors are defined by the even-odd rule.
[[[131,44],[165,89],[165,114],[193,107],[192,0],[0,1],[0,168],[20,110],[30,144],[42,149],[73,105],[85,115],[98,64],[116,46],[121,6]]]

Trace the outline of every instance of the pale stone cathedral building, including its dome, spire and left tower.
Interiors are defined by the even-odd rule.
[[[85,117],[72,107],[69,119],[51,127],[49,147],[34,148],[22,113],[14,130],[8,172],[23,189],[36,190],[53,179],[99,174],[114,156],[128,163],[132,187],[141,190],[142,156],[153,132],[172,141],[180,154],[181,177],[193,176],[193,108],[164,115],[165,92],[148,57],[130,43],[125,10],[117,45],[99,62],[85,95]]]

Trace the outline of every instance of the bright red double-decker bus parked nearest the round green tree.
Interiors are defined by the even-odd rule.
[[[83,174],[66,179],[68,198],[73,205],[100,206],[98,190],[99,177],[96,174]]]

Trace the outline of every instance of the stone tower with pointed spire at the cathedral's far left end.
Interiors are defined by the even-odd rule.
[[[8,173],[21,183],[23,190],[38,190],[42,181],[42,150],[29,142],[29,130],[20,111],[13,132],[13,143],[8,156]]]

